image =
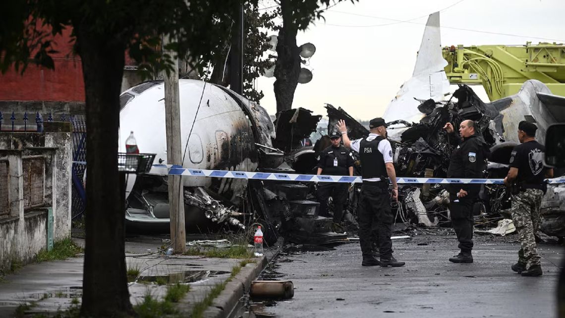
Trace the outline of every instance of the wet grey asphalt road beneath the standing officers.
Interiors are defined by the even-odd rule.
[[[539,245],[544,275],[522,277],[510,269],[516,239],[475,235],[472,264],[447,261],[458,253],[455,235],[394,240],[394,256],[406,261],[401,268],[362,267],[358,243],[283,254],[271,270],[293,281],[294,298],[257,310],[276,317],[554,317],[562,247]]]

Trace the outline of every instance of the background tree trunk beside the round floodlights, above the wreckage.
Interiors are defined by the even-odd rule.
[[[300,75],[300,50],[296,45],[298,27],[292,18],[293,7],[290,0],[281,0],[282,27],[277,43],[277,61],[275,66],[275,99],[277,113],[292,108],[294,91]]]

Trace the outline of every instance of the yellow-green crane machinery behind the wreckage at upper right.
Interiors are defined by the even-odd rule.
[[[536,79],[565,96],[565,45],[458,45],[442,49],[451,84],[483,85],[491,101],[518,93]]]

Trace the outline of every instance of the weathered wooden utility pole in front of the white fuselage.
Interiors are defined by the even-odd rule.
[[[164,46],[172,42],[169,36],[163,37],[163,53],[173,57],[173,70],[163,72],[165,84],[165,126],[167,128],[167,164],[182,166],[180,101],[179,101],[179,57]],[[169,218],[171,219],[171,247],[175,253],[183,253],[186,248],[184,226],[184,184],[182,175],[168,175]]]

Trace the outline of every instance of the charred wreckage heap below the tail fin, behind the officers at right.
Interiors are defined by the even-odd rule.
[[[549,97],[551,96],[551,97]],[[344,110],[327,105],[329,122],[346,121],[352,139],[366,136],[368,131]],[[459,85],[449,101],[421,101],[418,109],[425,116],[419,123],[403,120],[389,122],[389,131],[402,130],[398,140],[391,140],[397,175],[403,177],[445,178],[450,154],[455,145],[443,129],[447,122],[455,127],[466,120],[477,123],[482,139],[490,146],[484,178],[504,178],[509,170],[510,152],[517,140],[517,125],[521,120],[536,122],[540,128],[538,140],[545,139],[549,123],[565,121],[565,97],[552,95],[539,81],[526,81],[514,96],[485,103],[467,85]],[[541,119],[541,120],[538,120]],[[392,126],[392,127],[391,127]],[[509,128],[510,127],[510,128]],[[510,218],[510,195],[497,184],[481,186],[480,201],[475,204],[477,225],[496,226],[497,221]],[[550,186],[542,201],[541,228],[547,235],[565,234],[565,187]],[[353,200],[355,201],[355,200]],[[449,226],[447,205],[449,194],[441,184],[399,185],[397,221],[421,226]],[[349,207],[354,211],[355,207]],[[393,208],[394,209],[394,208]]]

